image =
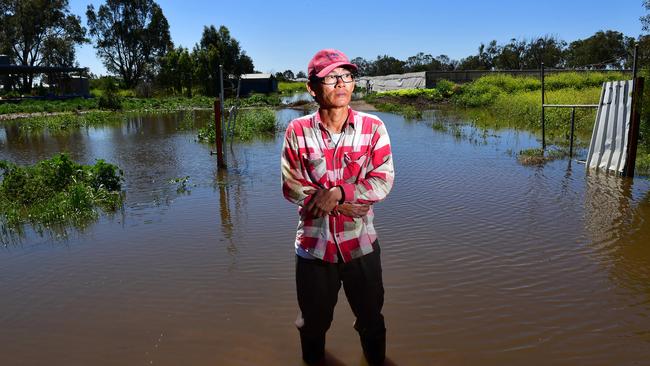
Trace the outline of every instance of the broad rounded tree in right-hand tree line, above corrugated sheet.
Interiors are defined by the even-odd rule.
[[[628,58],[628,48],[633,43],[633,38],[625,37],[621,32],[598,31],[589,38],[569,44],[564,56],[566,65],[587,69],[622,68]]]

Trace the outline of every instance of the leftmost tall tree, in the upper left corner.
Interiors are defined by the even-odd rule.
[[[23,66],[73,66],[75,45],[88,41],[67,0],[2,0],[0,26],[0,51]],[[31,90],[34,75],[22,76],[23,90]]]

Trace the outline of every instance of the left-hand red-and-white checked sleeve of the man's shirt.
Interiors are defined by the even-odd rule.
[[[299,206],[309,203],[311,196],[305,194],[308,188],[318,188],[303,175],[298,136],[289,125],[284,137],[281,156],[282,194],[289,202]]]

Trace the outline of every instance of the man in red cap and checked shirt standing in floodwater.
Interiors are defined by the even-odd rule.
[[[366,359],[380,365],[386,353],[372,204],[393,186],[393,158],[384,123],[349,106],[356,70],[338,50],[316,53],[307,90],[318,111],[289,123],[282,149],[282,192],[299,206],[296,326],[308,364],[324,358],[341,283]]]

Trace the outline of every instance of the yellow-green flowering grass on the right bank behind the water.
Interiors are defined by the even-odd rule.
[[[641,72],[646,80],[650,70]],[[623,73],[557,73],[545,79],[546,103],[548,104],[597,104],[602,83],[613,80],[627,80]],[[367,95],[364,99],[377,109],[393,113],[412,113],[424,109],[438,108],[450,104],[454,113],[462,114],[482,128],[525,129],[541,131],[541,81],[536,77],[520,77],[507,74],[483,76],[474,82],[456,85],[441,80],[435,89],[399,90]],[[637,152],[636,171],[650,175],[650,87],[644,88],[641,103],[641,131]],[[409,109],[415,108],[415,113]],[[408,112],[404,112],[404,111]],[[587,146],[591,138],[596,109],[576,109],[575,146]],[[543,159],[557,159],[569,144],[571,110],[568,108],[547,108],[545,111],[545,132],[548,145],[553,145]],[[444,126],[434,126],[442,129]],[[521,154],[520,154],[521,155]],[[538,154],[539,155],[539,154]],[[556,156],[557,155],[557,156]],[[534,154],[524,153],[526,160],[533,161]],[[537,156],[539,157],[539,156]]]

